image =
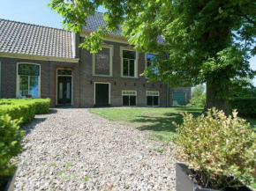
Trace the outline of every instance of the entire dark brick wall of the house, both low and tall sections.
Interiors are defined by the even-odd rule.
[[[80,39],[81,40],[81,39]],[[114,46],[113,77],[93,76],[93,55],[86,49],[79,49],[79,63],[37,61],[16,58],[0,57],[2,63],[2,98],[16,97],[16,72],[17,62],[31,62],[41,65],[41,98],[50,98],[51,107],[56,106],[56,69],[68,67],[73,70],[73,107],[94,107],[94,84],[104,82],[110,84],[110,105],[122,106],[122,91],[137,91],[137,106],[146,107],[147,91],[160,92],[160,106],[167,107],[167,84],[162,82],[147,83],[145,77],[140,77],[145,70],[145,54],[139,53],[137,78],[121,77],[120,47],[128,47],[127,44],[106,41],[106,44]],[[191,88],[178,88],[186,91],[187,102],[191,98]],[[169,106],[172,105],[172,91],[169,89]]]

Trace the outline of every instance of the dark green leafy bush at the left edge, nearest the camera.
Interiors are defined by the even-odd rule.
[[[11,120],[8,114],[0,116],[0,187],[15,171],[11,158],[23,151],[21,140],[24,131],[19,130],[20,120]]]

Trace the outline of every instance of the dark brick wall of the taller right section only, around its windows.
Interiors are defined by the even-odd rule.
[[[94,107],[94,83],[110,83],[110,105],[112,107],[122,106],[122,91],[137,91],[137,106],[146,107],[147,91],[160,92],[160,106],[166,107],[167,97],[165,83],[147,83],[145,77],[124,78],[121,77],[121,56],[120,47],[128,47],[127,44],[105,41],[106,44],[114,45],[113,56],[113,77],[94,77],[93,76],[93,55],[86,49],[80,49],[81,64],[81,107]],[[145,54],[139,54],[138,74],[145,70]]]

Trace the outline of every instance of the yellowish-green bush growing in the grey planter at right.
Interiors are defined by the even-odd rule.
[[[256,177],[256,135],[250,124],[215,108],[194,118],[184,114],[174,140],[179,160],[199,175],[202,187],[250,185]],[[254,179],[254,180],[253,180]]]

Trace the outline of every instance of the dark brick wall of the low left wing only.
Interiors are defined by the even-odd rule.
[[[41,65],[41,98],[50,98],[51,107],[56,105],[56,69],[73,70],[73,106],[79,107],[79,63],[37,61],[0,57],[2,70],[2,98],[15,98],[17,87],[17,63],[29,62]]]

